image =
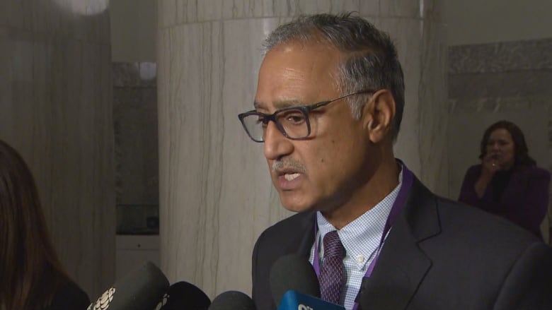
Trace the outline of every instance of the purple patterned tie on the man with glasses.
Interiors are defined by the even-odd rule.
[[[341,244],[337,230],[324,236],[324,260],[320,266],[320,293],[323,300],[340,304],[340,294],[345,282],[343,258],[345,248]]]

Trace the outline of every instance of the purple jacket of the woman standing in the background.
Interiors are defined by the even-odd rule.
[[[539,167],[514,169],[500,200],[493,196],[493,181],[479,198],[474,185],[481,174],[481,165],[471,166],[466,172],[459,201],[507,218],[541,237],[541,222],[548,210],[550,173]]]

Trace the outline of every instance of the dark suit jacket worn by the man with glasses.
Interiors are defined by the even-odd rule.
[[[272,263],[309,258],[315,213],[268,228],[253,250],[253,300],[275,309]],[[414,179],[405,208],[357,301],[364,310],[552,309],[552,253],[507,220],[440,198]]]

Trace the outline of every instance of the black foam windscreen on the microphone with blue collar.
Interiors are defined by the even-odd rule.
[[[270,269],[270,290],[275,304],[289,290],[320,297],[318,277],[309,260],[296,254],[278,258]]]

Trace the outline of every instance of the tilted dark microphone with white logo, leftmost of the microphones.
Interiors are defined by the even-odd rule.
[[[88,310],[151,310],[168,289],[168,280],[148,261],[115,281]]]

